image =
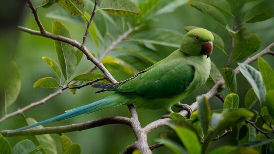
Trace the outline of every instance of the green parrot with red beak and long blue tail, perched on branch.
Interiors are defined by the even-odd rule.
[[[105,108],[133,104],[143,109],[170,109],[194,93],[207,81],[214,37],[203,28],[187,32],[179,49],[165,59],[117,83],[97,83],[92,87],[102,91],[114,91],[99,101],[71,109],[59,116],[22,127],[13,132],[35,126],[65,120]]]

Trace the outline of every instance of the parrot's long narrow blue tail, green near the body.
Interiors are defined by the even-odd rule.
[[[64,113],[59,116],[38,122],[36,124],[25,126],[25,127],[22,127],[22,128],[16,129],[16,130],[11,130],[10,132],[17,132],[17,131],[29,129],[32,127],[36,127],[39,125],[69,119],[69,118],[72,118],[72,117],[75,117],[78,115],[92,113],[92,112],[99,111],[99,110],[102,110],[105,108],[120,106],[120,105],[128,103],[128,101],[129,100],[126,99],[125,97],[123,97],[122,95],[113,93],[112,95],[110,95],[104,99],[101,99],[99,101],[96,101],[96,102],[93,102],[93,103],[90,103],[90,104],[87,104],[87,105],[84,105],[84,106],[81,106],[81,107],[78,107],[75,109],[68,110],[67,113]]]

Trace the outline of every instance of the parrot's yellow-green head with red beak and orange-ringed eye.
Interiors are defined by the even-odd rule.
[[[208,58],[212,53],[213,39],[213,34],[207,29],[192,29],[184,36],[180,49],[192,56],[206,55]]]

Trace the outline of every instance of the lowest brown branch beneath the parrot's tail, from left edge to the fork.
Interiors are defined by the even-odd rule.
[[[124,124],[131,126],[131,119],[127,117],[121,116],[113,116],[113,117],[106,117],[98,120],[88,121],[85,123],[79,124],[71,124],[66,126],[58,126],[58,127],[45,127],[45,128],[32,128],[18,132],[10,133],[8,130],[0,131],[4,137],[12,137],[12,136],[25,136],[25,135],[42,135],[42,134],[61,134],[67,132],[74,132],[74,131],[83,131],[95,127],[100,127],[104,125],[110,124]]]

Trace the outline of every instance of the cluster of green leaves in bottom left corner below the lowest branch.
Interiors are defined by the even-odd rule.
[[[36,123],[32,118],[27,118],[28,124]],[[39,126],[42,127],[42,126]],[[81,154],[81,147],[64,136],[60,136],[62,154]],[[38,146],[35,146],[38,145]],[[56,143],[50,135],[31,136],[17,143],[12,149],[8,141],[0,134],[0,154],[58,154]]]

